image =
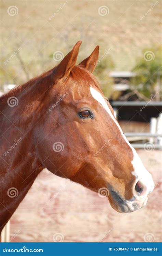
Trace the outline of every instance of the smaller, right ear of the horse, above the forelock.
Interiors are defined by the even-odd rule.
[[[93,73],[98,60],[98,54],[99,54],[99,46],[97,45],[94,51],[91,53],[91,55],[87,57],[85,60],[83,60],[82,62],[80,62],[79,65],[83,66],[85,69]]]

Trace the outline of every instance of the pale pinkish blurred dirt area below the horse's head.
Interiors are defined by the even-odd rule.
[[[11,219],[11,242],[160,242],[162,151],[137,151],[155,183],[146,207],[119,214],[107,198],[43,170]]]

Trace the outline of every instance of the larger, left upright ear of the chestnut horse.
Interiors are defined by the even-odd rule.
[[[78,41],[72,50],[64,57],[64,59],[56,66],[56,68],[54,68],[52,72],[54,81],[63,77],[65,79],[68,77],[73,66],[76,64],[81,43],[82,41]]]

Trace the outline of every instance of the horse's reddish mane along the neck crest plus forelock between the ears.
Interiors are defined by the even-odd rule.
[[[51,77],[52,72],[54,71],[54,69],[46,71],[46,72],[42,73],[39,76],[31,78],[28,82],[16,86],[12,90],[10,90],[8,93],[6,93],[6,94],[4,94],[0,97],[0,103],[3,105],[3,103],[6,103],[6,101],[9,97],[14,96],[17,93],[20,94],[21,92],[30,88],[34,84],[38,84],[38,86],[39,86],[41,84],[41,82],[44,80],[44,78],[49,78],[49,81],[46,81],[46,83],[49,82],[49,86],[50,86],[50,77]],[[69,77],[73,78],[73,80],[76,82],[77,86],[78,85],[82,86],[83,83],[85,83],[87,85],[94,85],[98,89],[100,88],[95,76],[91,72],[89,72],[85,68],[83,68],[81,65],[75,65],[72,68]],[[65,86],[66,86],[66,84],[65,84]]]

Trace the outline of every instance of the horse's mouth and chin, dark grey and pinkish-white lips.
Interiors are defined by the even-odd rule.
[[[115,191],[111,191],[111,197],[114,201],[114,203],[110,201],[111,206],[112,208],[115,208],[115,210],[117,210],[118,212],[133,212],[141,208],[136,202],[128,203],[126,200],[123,200]]]

